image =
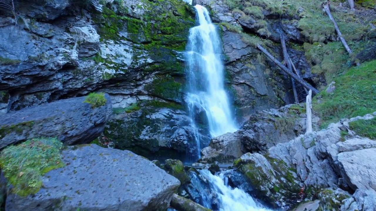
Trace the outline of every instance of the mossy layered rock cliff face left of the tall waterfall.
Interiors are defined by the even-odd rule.
[[[20,0],[15,9],[17,17],[0,8],[1,113],[101,91],[111,96],[104,135],[115,147],[143,155],[171,148],[182,157],[195,150],[182,106],[193,6]]]

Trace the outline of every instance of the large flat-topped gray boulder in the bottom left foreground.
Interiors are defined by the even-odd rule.
[[[162,211],[170,205],[178,179],[133,152],[95,144],[69,146],[65,167],[42,177],[36,194],[8,195],[8,211]]]

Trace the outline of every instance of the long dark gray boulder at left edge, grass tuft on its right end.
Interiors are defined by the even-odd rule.
[[[92,109],[85,97],[63,99],[6,113],[0,118],[0,149],[33,137],[57,137],[66,145],[98,137],[112,113],[111,99]]]

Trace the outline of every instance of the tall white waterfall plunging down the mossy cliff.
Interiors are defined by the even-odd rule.
[[[211,137],[237,131],[227,93],[224,89],[222,44],[217,28],[211,23],[208,10],[196,5],[199,26],[190,29],[186,47],[189,91],[186,102],[193,124],[197,113],[205,112]],[[195,125],[195,128],[196,125]],[[195,134],[199,156],[201,143]]]

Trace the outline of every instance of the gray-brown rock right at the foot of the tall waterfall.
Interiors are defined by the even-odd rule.
[[[246,150],[242,145],[242,136],[237,133],[226,133],[221,136],[213,138],[209,146],[202,149],[199,162],[201,163],[232,163],[232,161],[241,155]]]

